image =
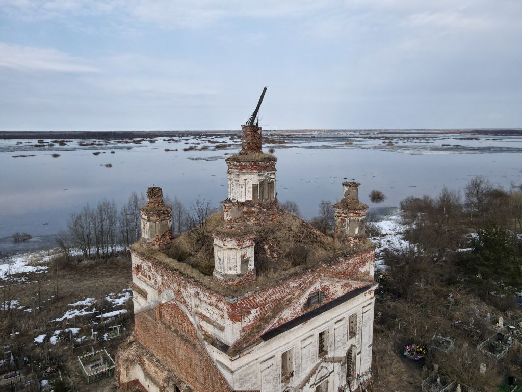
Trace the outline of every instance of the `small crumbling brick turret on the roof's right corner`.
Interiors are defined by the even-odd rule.
[[[365,239],[364,225],[368,206],[359,201],[359,182],[342,183],[342,199],[334,204],[334,241],[339,247],[360,243]]]

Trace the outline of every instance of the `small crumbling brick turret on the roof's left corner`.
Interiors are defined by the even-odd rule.
[[[147,204],[139,209],[141,221],[140,243],[153,249],[167,248],[172,235],[172,207],[163,201],[161,188],[147,189]]]

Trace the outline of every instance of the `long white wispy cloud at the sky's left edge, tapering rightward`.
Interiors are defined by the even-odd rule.
[[[15,70],[60,72],[73,74],[99,73],[96,67],[54,49],[10,45],[0,42],[0,68]]]

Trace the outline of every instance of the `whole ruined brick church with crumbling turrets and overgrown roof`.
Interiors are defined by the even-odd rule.
[[[261,101],[261,100],[260,100]],[[282,211],[277,158],[253,117],[226,159],[222,212],[177,237],[147,190],[132,247],[135,331],[121,387],[147,392],[338,392],[369,383],[375,247],[357,182],[342,183],[333,238]],[[325,195],[325,197],[333,195]]]

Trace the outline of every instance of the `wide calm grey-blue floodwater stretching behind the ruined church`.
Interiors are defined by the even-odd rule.
[[[52,244],[70,213],[85,204],[95,205],[107,198],[120,206],[131,192],[145,192],[152,185],[162,187],[171,198],[178,197],[185,206],[201,195],[219,207],[228,190],[224,158],[239,150],[238,136],[239,132],[195,134],[176,137],[180,141],[159,137],[154,139],[156,143],[109,142],[90,147],[78,146],[86,141],[76,140],[63,147],[30,147],[37,144],[35,140],[0,140],[0,251],[23,250],[24,246],[13,247],[5,238],[15,232],[35,237],[28,247]],[[409,195],[437,195],[444,186],[462,190],[476,175],[488,177],[506,190],[522,184],[520,136],[348,131],[269,134],[272,136],[288,142],[273,145],[278,157],[278,199],[297,202],[305,218],[317,213],[322,200],[337,201],[345,180],[361,182],[360,199],[376,212],[397,206]],[[386,136],[393,146],[386,145]],[[234,145],[217,148],[218,143],[209,140]],[[208,149],[183,151],[204,145]],[[270,146],[265,145],[264,150]],[[53,153],[60,156],[54,158]],[[13,157],[29,154],[34,156]],[[387,199],[371,203],[368,194],[373,189],[384,192]]]

